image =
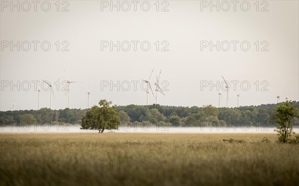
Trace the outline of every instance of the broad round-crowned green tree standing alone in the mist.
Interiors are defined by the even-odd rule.
[[[111,106],[112,102],[102,99],[99,106],[93,106],[86,115],[82,117],[81,130],[99,130],[103,133],[105,129],[118,129],[120,116],[115,111],[116,106]]]

